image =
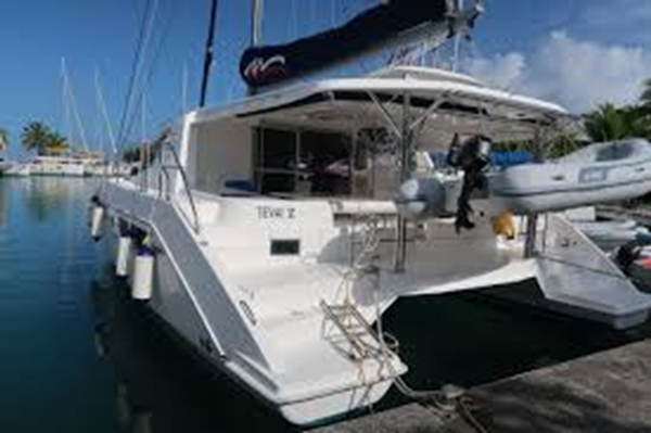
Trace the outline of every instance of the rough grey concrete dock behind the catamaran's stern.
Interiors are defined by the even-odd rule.
[[[314,433],[651,433],[651,340],[468,391],[468,417],[409,404]]]

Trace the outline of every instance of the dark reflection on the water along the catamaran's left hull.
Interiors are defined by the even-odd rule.
[[[97,353],[115,373],[115,417],[125,432],[292,430],[238,384],[203,365],[110,277],[93,282]]]

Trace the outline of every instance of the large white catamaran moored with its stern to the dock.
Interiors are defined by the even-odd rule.
[[[187,114],[146,170],[103,182],[92,233],[113,222],[133,297],[210,365],[289,421],[320,422],[406,387],[381,321],[400,296],[536,279],[532,302],[616,328],[646,320],[650,298],[549,212],[650,190],[648,143],[629,145],[633,162],[537,164],[535,179],[488,164],[492,142],[541,147],[573,122],[433,68],[277,87]],[[450,142],[435,167],[427,152]],[[511,232],[495,227],[502,219]]]

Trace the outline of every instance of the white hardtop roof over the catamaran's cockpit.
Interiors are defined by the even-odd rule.
[[[366,77],[322,79],[250,97],[190,122],[237,117],[326,129],[399,125],[406,102],[411,118],[425,116],[421,133],[484,133],[494,140],[532,138],[540,127],[574,117],[560,105],[489,88],[469,76],[425,67],[392,67]],[[444,141],[447,141],[445,138]]]

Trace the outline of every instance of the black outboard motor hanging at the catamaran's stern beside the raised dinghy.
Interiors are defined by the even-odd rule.
[[[474,136],[463,144],[459,143],[459,136],[455,136],[448,154],[448,164],[463,170],[463,184],[457,200],[457,219],[455,228],[457,233],[461,229],[471,230],[474,222],[470,220],[473,212],[470,206],[470,196],[476,189],[483,190],[487,182],[484,169],[490,165],[490,151],[493,142],[484,136]]]

